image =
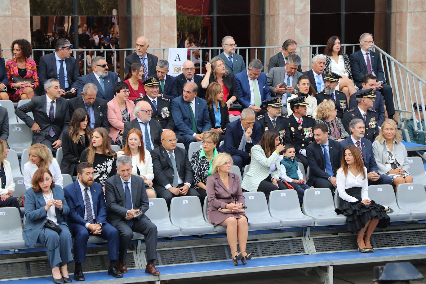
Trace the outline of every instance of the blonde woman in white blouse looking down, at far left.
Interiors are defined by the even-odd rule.
[[[31,179],[37,169],[46,168],[52,173],[55,184],[62,187],[63,178],[60,172],[58,161],[50,156],[49,149],[46,145],[35,143],[28,149],[28,162],[23,168],[25,189],[31,187]]]

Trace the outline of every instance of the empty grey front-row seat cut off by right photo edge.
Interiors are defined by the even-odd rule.
[[[397,187],[397,204],[410,212],[413,219],[426,219],[426,192],[423,184],[400,184]]]

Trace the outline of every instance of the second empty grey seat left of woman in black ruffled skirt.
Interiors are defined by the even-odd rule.
[[[299,206],[299,197],[294,189],[271,191],[269,195],[269,213],[281,221],[282,227],[312,226],[314,220],[303,215]]]

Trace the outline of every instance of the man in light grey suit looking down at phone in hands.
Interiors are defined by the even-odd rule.
[[[283,115],[287,115],[287,98],[291,94],[297,94],[297,79],[303,74],[297,69],[300,66],[300,57],[292,54],[288,57],[284,67],[273,67],[268,73],[268,87],[271,97],[281,97],[281,103],[284,105],[281,109]],[[281,88],[285,83],[287,87]]]

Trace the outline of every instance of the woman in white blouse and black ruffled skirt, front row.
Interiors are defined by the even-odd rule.
[[[335,211],[346,216],[348,231],[358,232],[358,251],[373,252],[371,234],[376,227],[389,225],[390,219],[382,205],[368,198],[367,169],[354,145],[345,148],[336,178],[340,206]]]

